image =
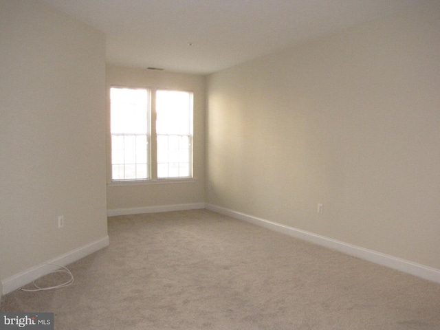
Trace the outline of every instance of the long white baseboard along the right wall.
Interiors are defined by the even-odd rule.
[[[404,259],[397,258],[388,254],[381,252],[369,250],[362,248],[357,245],[344,243],[342,241],[337,241],[336,239],[330,239],[325,236],[320,236],[314,234],[313,232],[307,232],[305,230],[299,230],[296,228],[289,227],[288,225],[282,225],[281,223],[276,223],[261,219],[258,217],[253,217],[248,214],[241,212],[236,212],[228,208],[221,208],[220,206],[214,206],[212,204],[206,204],[208,210],[218,212],[221,214],[228,215],[235,219],[246,221],[254,225],[259,225],[270,230],[275,230],[276,232],[281,232],[289,236],[295,237],[297,239],[302,239],[303,241],[309,241],[318,245],[322,245],[325,248],[330,248],[332,250],[340,251],[344,254],[349,254],[350,256],[355,256],[366,261],[371,261],[379,265],[393,268],[407,274],[417,276],[429,281],[440,283],[440,270],[437,270],[426,265],[420,265],[419,263],[413,263]]]

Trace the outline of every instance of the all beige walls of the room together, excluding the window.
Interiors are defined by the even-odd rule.
[[[0,280],[107,236],[107,208],[204,198],[440,269],[439,12],[213,74],[206,118],[203,76],[107,67],[107,91],[194,91],[195,180],[110,185],[106,206],[104,35],[0,0]]]

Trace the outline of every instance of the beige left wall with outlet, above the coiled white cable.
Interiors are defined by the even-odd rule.
[[[105,37],[38,1],[0,0],[0,44],[4,280],[107,237]]]

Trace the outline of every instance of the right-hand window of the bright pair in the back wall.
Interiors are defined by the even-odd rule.
[[[157,178],[192,177],[192,93],[156,92]]]

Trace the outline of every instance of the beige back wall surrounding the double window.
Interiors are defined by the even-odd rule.
[[[109,211],[170,206],[204,201],[205,77],[147,69],[107,66],[107,91],[111,86],[176,89],[194,93],[193,180],[157,180],[144,184],[111,184],[109,96],[107,96],[107,208]]]

